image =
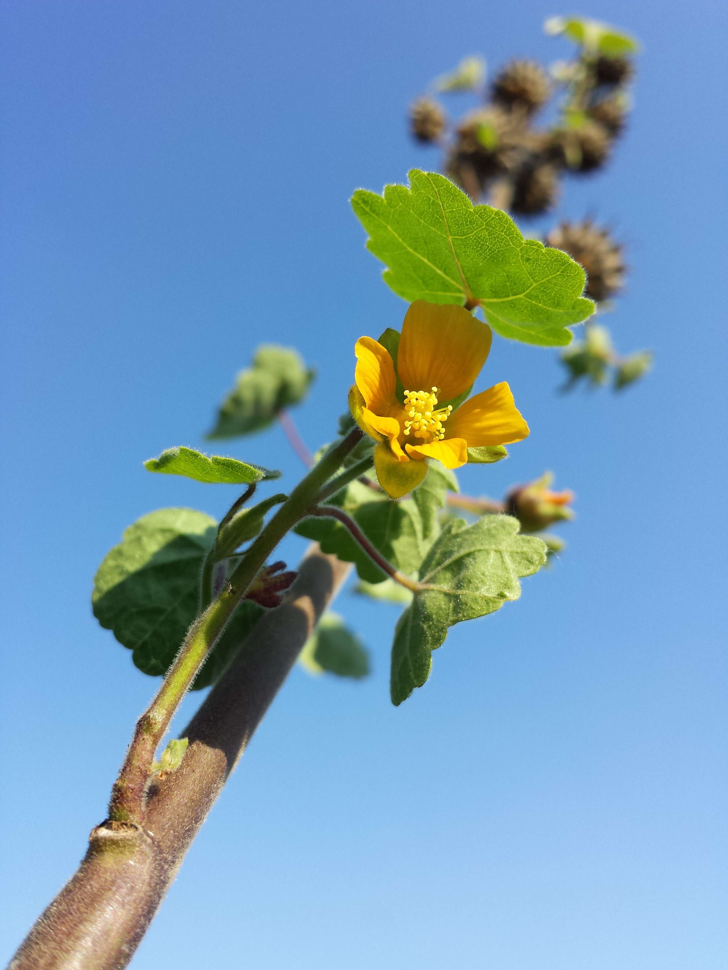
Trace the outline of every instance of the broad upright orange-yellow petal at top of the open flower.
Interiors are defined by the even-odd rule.
[[[490,327],[465,307],[415,300],[397,351],[400,380],[408,391],[437,387],[440,403],[451,401],[472,387],[492,339]]]

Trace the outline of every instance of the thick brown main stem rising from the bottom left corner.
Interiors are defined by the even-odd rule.
[[[22,943],[9,970],[122,970],[192,839],[350,566],[316,546],[288,597],[256,624],[189,725],[177,771],[152,783],[144,828],[94,828],[81,867]]]

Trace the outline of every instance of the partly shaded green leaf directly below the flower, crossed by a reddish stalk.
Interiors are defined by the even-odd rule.
[[[351,482],[329,503],[343,508],[392,566],[408,575],[416,571],[426,546],[419,509],[413,499],[390,501],[383,493],[378,497],[361,482]],[[304,519],[295,532],[314,539],[323,552],[342,562],[354,563],[359,578],[369,583],[381,583],[386,578],[346,526],[336,519]]]

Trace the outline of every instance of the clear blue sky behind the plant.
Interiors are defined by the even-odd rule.
[[[552,351],[496,339],[484,379],[510,381],[532,433],[463,484],[497,496],[554,469],[579,497],[568,552],[453,630],[398,709],[396,610],[344,595],[374,675],[294,671],[137,970],[726,966],[727,17],[717,0],[582,12],[645,52],[615,161],[570,182],[559,214],[627,243],[610,324],[621,348],[655,349],[655,372],[618,398],[560,397]],[[405,309],[348,196],[437,166],[404,114],[463,54],[565,56],[541,32],[556,13],[0,4],[0,955],[75,869],[155,688],[91,617],[96,566],[143,513],[234,497],[142,461],[203,444],[261,340],[318,368],[297,418],[312,447],[331,436],[353,340]],[[229,451],[301,470],[279,431]]]

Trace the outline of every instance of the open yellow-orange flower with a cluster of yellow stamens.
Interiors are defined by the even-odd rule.
[[[375,468],[390,498],[407,495],[422,481],[423,459],[459,469],[469,447],[511,444],[528,435],[506,383],[463,403],[492,339],[490,327],[465,307],[417,300],[402,325],[396,372],[381,343],[371,337],[356,341],[349,406],[362,431],[379,442]],[[404,400],[397,397],[397,377]]]

